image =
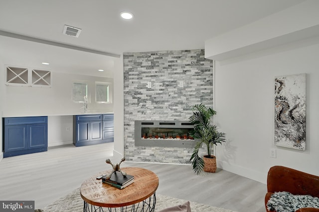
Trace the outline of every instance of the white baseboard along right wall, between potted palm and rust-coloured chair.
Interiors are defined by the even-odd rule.
[[[217,160],[217,167],[232,172],[234,174],[238,174],[240,176],[258,181],[263,184],[267,183],[267,172],[258,172],[252,169],[248,169],[246,167],[238,166],[236,164],[230,164],[229,162],[223,162],[220,160]]]

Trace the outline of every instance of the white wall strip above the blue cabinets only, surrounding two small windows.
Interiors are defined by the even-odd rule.
[[[84,104],[72,102],[73,80],[88,82],[89,110],[113,112],[113,103],[95,103],[95,81],[113,82],[113,78],[52,72],[51,88],[4,86],[3,116],[50,116],[84,112],[84,109],[81,108]]]

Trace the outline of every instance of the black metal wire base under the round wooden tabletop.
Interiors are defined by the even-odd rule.
[[[84,201],[83,212],[154,212],[156,195],[143,200],[140,203],[120,208],[104,208],[88,204]]]

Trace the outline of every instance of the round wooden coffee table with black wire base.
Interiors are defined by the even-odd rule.
[[[138,167],[121,168],[129,175],[134,176],[134,183],[120,190],[96,176],[108,174],[105,171],[85,180],[80,188],[80,194],[84,200],[84,212],[97,211],[144,211],[154,212],[156,204],[155,192],[159,187],[159,177],[152,171]],[[104,208],[104,209],[103,209]]]

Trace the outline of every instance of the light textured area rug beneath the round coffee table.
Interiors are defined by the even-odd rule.
[[[181,205],[187,202],[177,198],[167,197],[156,194],[155,212]],[[227,209],[212,207],[204,204],[190,202],[191,212],[232,212]],[[72,191],[66,196],[46,206],[44,209],[35,210],[36,212],[83,212],[83,200],[80,196],[80,188]]]

